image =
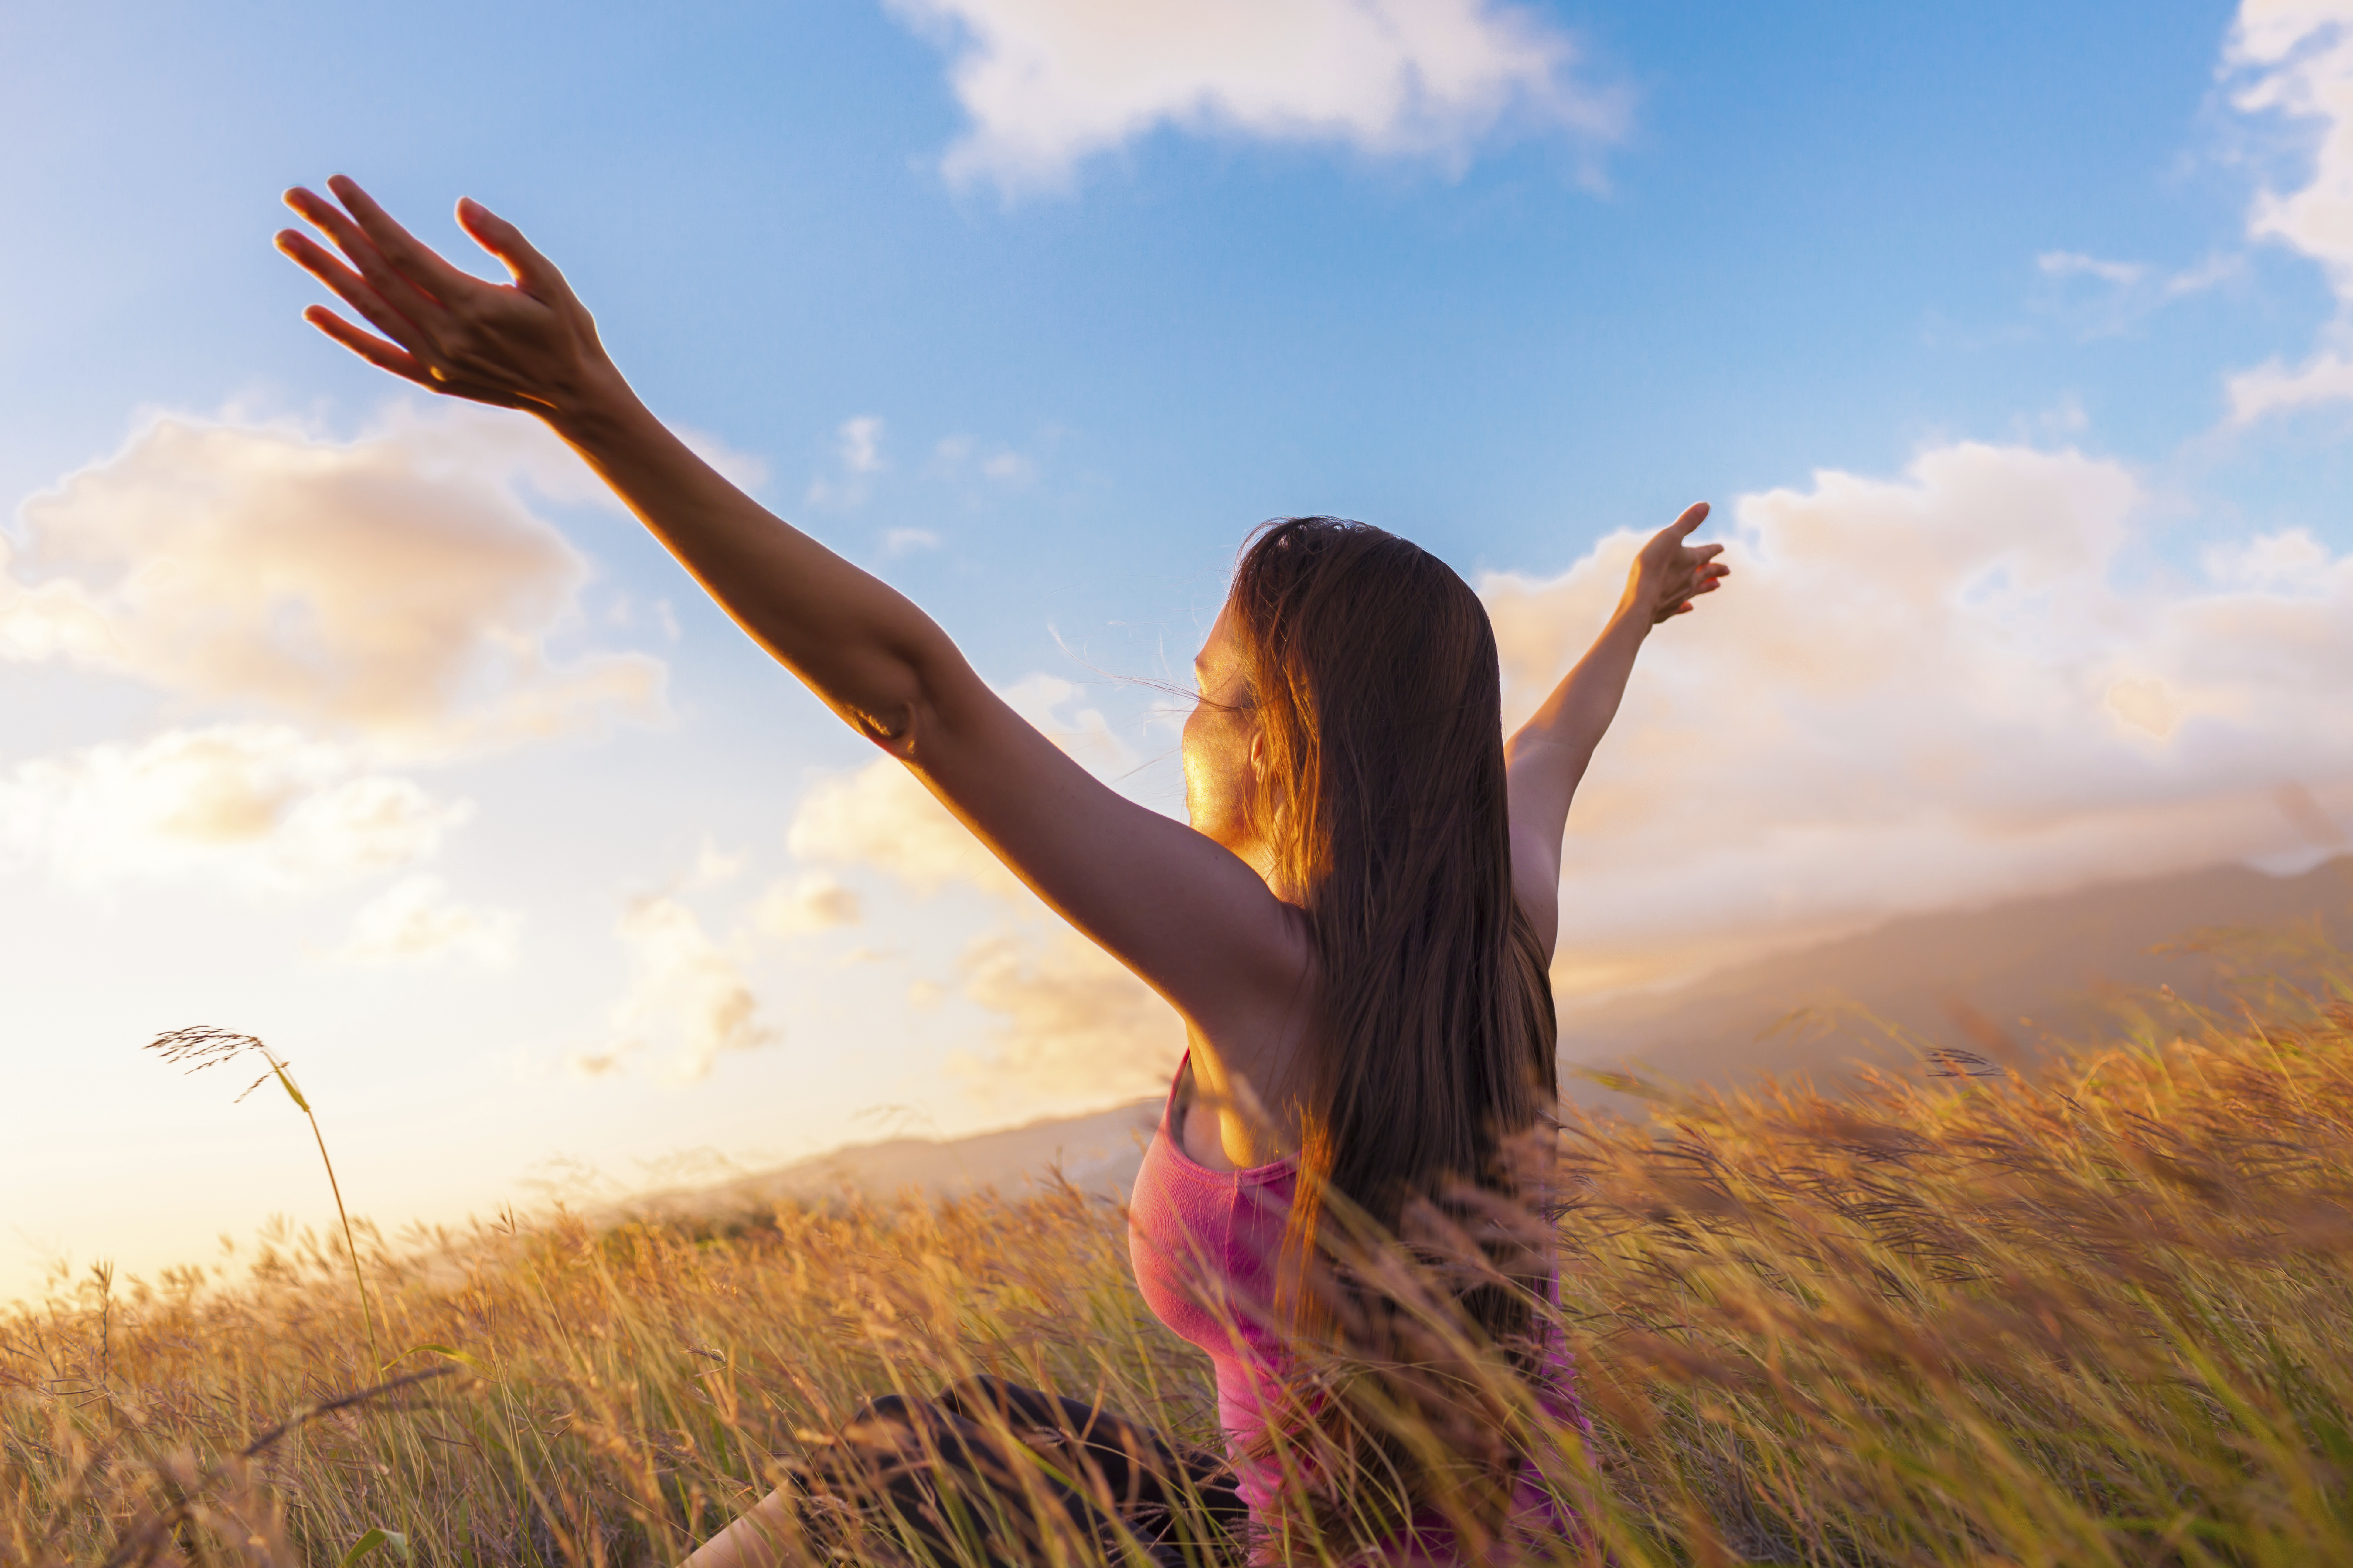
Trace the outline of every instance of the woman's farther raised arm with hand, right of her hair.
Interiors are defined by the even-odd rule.
[[[1569,825],[1569,802],[1593,762],[1593,748],[1617,717],[1635,654],[1649,628],[1689,614],[1692,599],[1715,592],[1732,571],[1715,559],[1722,545],[1682,543],[1706,520],[1708,503],[1701,501],[1642,545],[1609,625],[1534,717],[1504,743],[1511,778],[1511,889],[1537,924],[1546,952],[1560,933],[1560,835]]]

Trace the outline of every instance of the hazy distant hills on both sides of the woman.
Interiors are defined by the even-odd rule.
[[[2235,936],[2191,952],[2155,952],[2198,933]],[[2188,1001],[2224,1001],[2233,966],[2287,978],[2308,971],[2313,938],[2353,945],[2353,856],[2301,877],[2214,867],[1892,919],[1671,992],[1562,1009],[1560,1056],[1565,1067],[1633,1067],[1680,1084],[1777,1072],[1824,1086],[1859,1060],[1918,1063],[1920,1048],[1937,1046],[2031,1060],[2097,1030],[2104,997],[2118,987],[2169,985]],[[1894,1041],[1889,1027],[1913,1044]],[[1588,1105],[1640,1107],[1574,1077],[1565,1091]],[[741,1213],[845,1190],[1016,1192],[1054,1168],[1087,1192],[1125,1197],[1158,1119],[1160,1095],[1153,1095],[974,1138],[889,1138],[626,1208]]]

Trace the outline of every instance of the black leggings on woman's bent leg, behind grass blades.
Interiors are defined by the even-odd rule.
[[[861,1559],[878,1533],[911,1561],[972,1568],[1045,1563],[1056,1537],[1167,1568],[1242,1556],[1247,1509],[1221,1460],[1000,1378],[885,1394],[795,1469],[802,1526]]]

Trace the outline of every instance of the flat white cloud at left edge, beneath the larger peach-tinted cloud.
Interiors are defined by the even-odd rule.
[[[287,726],[172,729],[0,773],[0,863],[82,886],[219,875],[306,891],[428,858],[471,811]]]

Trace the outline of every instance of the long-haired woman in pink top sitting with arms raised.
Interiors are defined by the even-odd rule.
[[[353,181],[329,190],[287,202],[334,252],[299,230],[278,244],[374,331],[322,306],[306,320],[416,386],[546,421],[746,632],[1179,1011],[1191,1051],[1139,1175],[1134,1260],[1148,1305],[1212,1354],[1254,1523],[1294,1537],[1327,1523],[1337,1453],[1395,1481],[1369,1505],[1386,1556],[1485,1554],[1478,1542],[1532,1507],[1520,1455],[1473,1455],[1466,1488],[1367,1410],[1442,1420],[1447,1399],[1475,1403],[1442,1366],[1461,1347],[1504,1354],[1553,1408],[1569,1399],[1541,1333],[1553,1262],[1515,1251],[1489,1199],[1537,1197],[1508,1150],[1555,1100],[1546,966],[1569,797],[1649,628],[1725,578],[1720,545],[1685,543],[1708,508],[1642,548],[1593,651],[1508,748],[1494,635],[1461,578],[1362,524],[1271,524],[1195,661],[1186,827],[1101,785],[920,609],[696,458],[511,223],[459,202],[513,275],[492,284]],[[1461,1333],[1433,1326],[1395,1276],[1377,1284],[1362,1241],[1417,1232],[1473,1237],[1492,1265],[1442,1291]],[[1334,1345],[1391,1373],[1318,1385],[1294,1347]],[[974,1410],[955,1399],[1038,1396],[979,1387],[871,1415],[962,1453],[955,1422]],[[1068,1415],[1085,1443],[1108,1422],[1115,1441],[1096,1446],[1146,1481],[1181,1469],[1151,1434]],[[1301,1441],[1315,1432],[1332,1441]],[[934,1458],[941,1441],[927,1439]],[[786,1507],[762,1505],[767,1519]],[[760,1561],[760,1523],[739,1521],[699,1561]]]

